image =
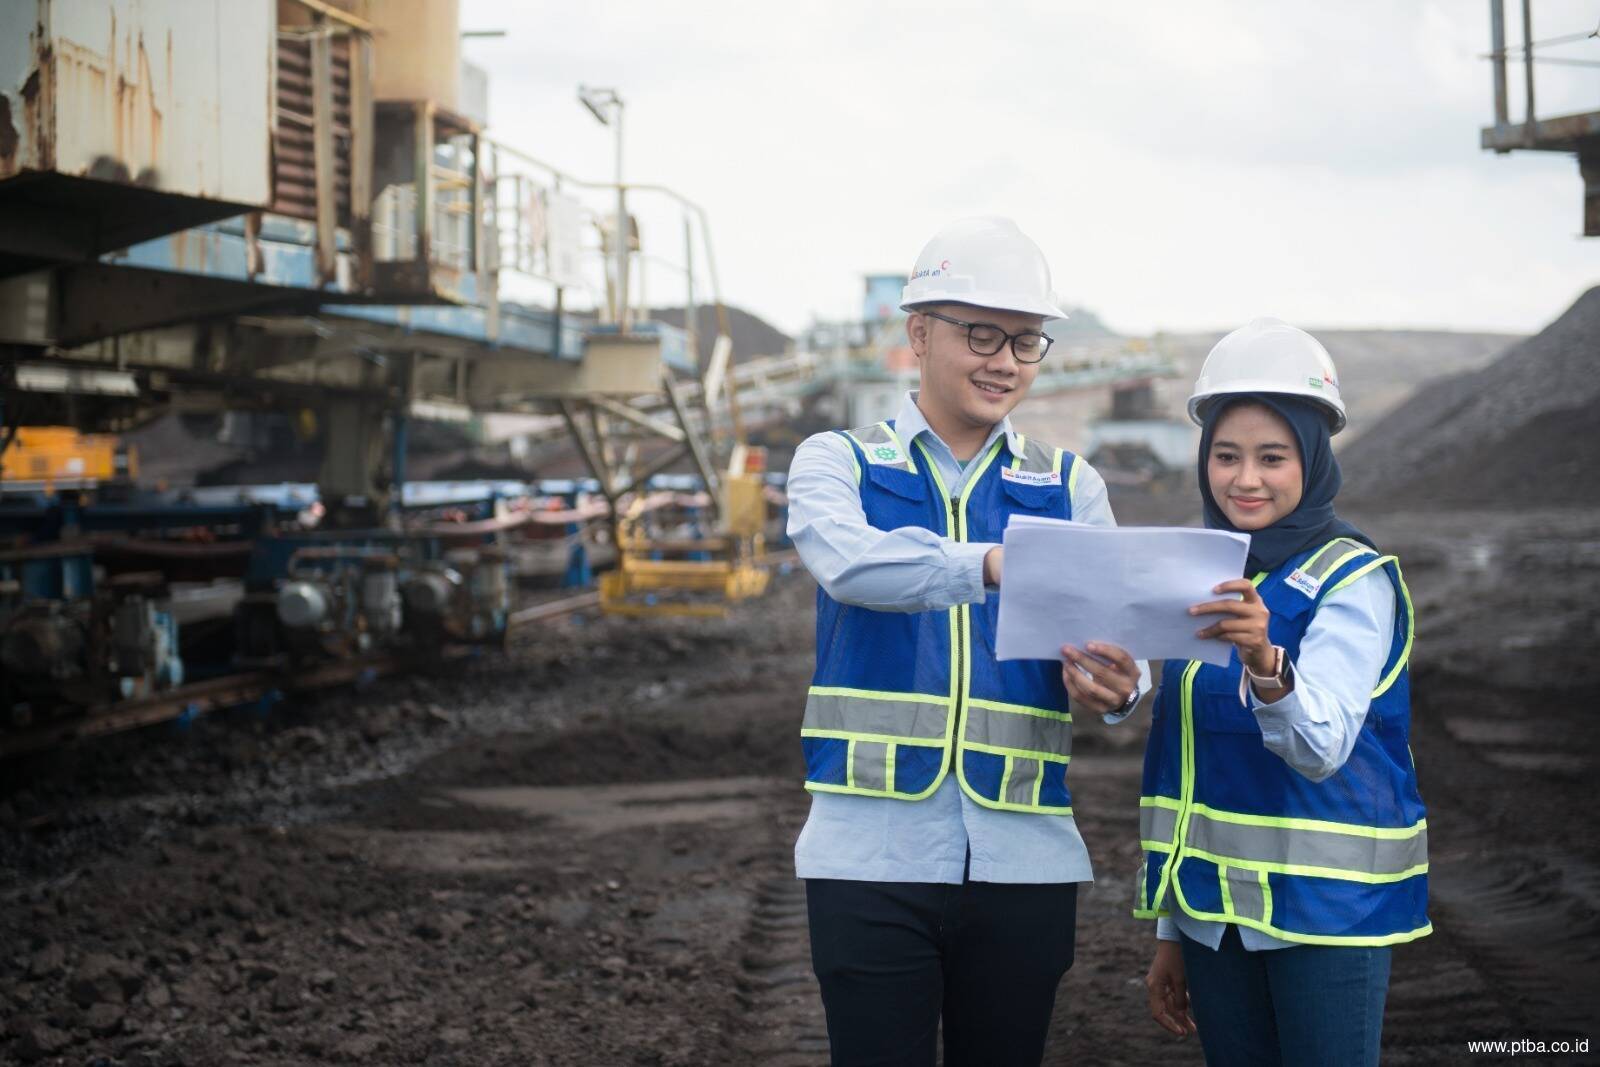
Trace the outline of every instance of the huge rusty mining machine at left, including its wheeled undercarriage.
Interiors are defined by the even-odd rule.
[[[690,304],[696,261],[717,293],[706,213],[624,186],[621,152],[616,181],[584,181],[490,138],[459,37],[456,0],[0,5],[0,453],[21,427],[118,432],[174,408],[307,411],[323,443],[314,530],[93,496],[8,512],[11,726],[118,697],[186,705],[171,582],[197,560],[246,568],[234,669],[360,672],[504,640],[517,523],[402,514],[418,418],[558,418],[611,545],[646,480],[688,466],[707,525],[738,541],[739,590],[755,581],[742,483],[738,523],[720,520],[731,390],[714,413],[693,333],[629,306],[646,261],[629,194],[682,210]],[[715,350],[726,370],[731,342]],[[110,569],[130,547],[149,569]]]

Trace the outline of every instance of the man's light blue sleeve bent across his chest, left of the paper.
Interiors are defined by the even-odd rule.
[[[816,434],[789,466],[789,539],[840,603],[874,611],[939,611],[984,598],[984,555],[998,545],[931,530],[878,530],[861,507],[856,458],[838,434]]]

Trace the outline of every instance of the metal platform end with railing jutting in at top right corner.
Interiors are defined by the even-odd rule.
[[[1578,171],[1584,181],[1584,237],[1600,237],[1600,110],[1539,118],[1534,66],[1539,62],[1560,66],[1597,67],[1600,61],[1539,54],[1554,45],[1571,45],[1600,37],[1600,29],[1586,34],[1568,34],[1547,40],[1534,40],[1533,0],[1522,0],[1522,45],[1509,46],[1506,40],[1506,0],[1490,0],[1490,37],[1493,48],[1490,61],[1494,70],[1494,125],[1482,131],[1482,146],[1499,154],[1571,152],[1578,157]],[[1522,62],[1523,115],[1512,122],[1509,64]]]

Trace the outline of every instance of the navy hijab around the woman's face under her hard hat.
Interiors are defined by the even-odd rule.
[[[1224,411],[1243,400],[1259,403],[1288,422],[1301,451],[1301,502],[1293,512],[1264,530],[1240,530],[1230,523],[1211,496],[1211,478],[1206,477],[1216,424],[1222,419]],[[1371,537],[1333,512],[1333,498],[1338,496],[1342,483],[1339,461],[1333,456],[1328,416],[1314,402],[1283,394],[1238,394],[1224,397],[1206,411],[1205,426],[1200,429],[1200,501],[1205,504],[1205,525],[1210,530],[1232,530],[1250,536],[1250,558],[1245,560],[1246,576],[1275,571],[1290,557],[1334,537],[1354,537],[1376,549]]]

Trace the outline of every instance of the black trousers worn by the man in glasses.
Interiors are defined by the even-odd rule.
[[[1038,1067],[1078,886],[806,880],[834,1067]]]

